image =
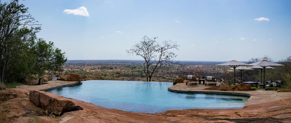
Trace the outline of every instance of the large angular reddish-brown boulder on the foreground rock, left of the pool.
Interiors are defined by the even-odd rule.
[[[44,91],[30,91],[29,98],[36,106],[54,112],[54,114],[58,114],[65,107],[75,106],[75,103],[69,99]]]

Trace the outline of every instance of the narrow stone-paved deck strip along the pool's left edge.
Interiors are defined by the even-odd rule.
[[[22,89],[28,89],[28,90],[34,90],[34,91],[41,91],[49,88],[56,88],[59,86],[66,86],[70,84],[74,84],[78,81],[61,81],[61,80],[56,80],[56,81],[48,81],[45,82],[47,84],[43,85],[37,85],[37,86],[28,86],[28,85],[21,85],[21,86],[16,86],[16,88],[22,88]]]

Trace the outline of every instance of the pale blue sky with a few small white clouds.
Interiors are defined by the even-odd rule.
[[[291,55],[289,0],[20,3],[42,24],[38,37],[54,42],[69,60],[141,60],[125,50],[144,35],[177,42],[177,60],[246,61],[263,55],[280,60]]]

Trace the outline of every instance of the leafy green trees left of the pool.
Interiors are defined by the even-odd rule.
[[[62,71],[67,61],[53,42],[37,38],[40,27],[28,8],[18,0],[0,0],[0,82],[19,81],[29,76],[43,76],[46,71]]]

